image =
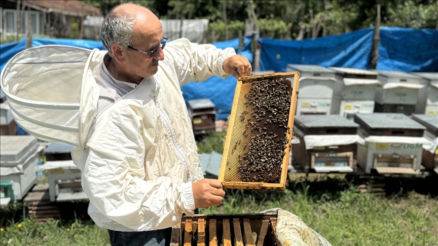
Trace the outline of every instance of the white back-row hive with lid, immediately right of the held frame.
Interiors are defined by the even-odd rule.
[[[286,72],[293,71],[300,72],[296,115],[339,114],[339,100],[334,102],[333,95],[340,84],[334,70],[318,65],[288,64]]]

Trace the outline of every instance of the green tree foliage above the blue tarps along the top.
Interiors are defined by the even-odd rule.
[[[100,8],[103,14],[120,0],[82,0]],[[248,19],[248,0],[225,1],[131,1],[150,8],[161,19],[210,20],[210,30],[216,39],[224,40],[223,3],[226,7],[229,38],[237,37],[237,30],[245,29]],[[296,38],[302,26],[305,37],[335,35],[374,26],[377,4],[381,5],[381,26],[437,28],[438,2],[433,0],[409,1],[281,1],[253,0],[260,25],[261,37]],[[315,34],[313,34],[316,32]]]

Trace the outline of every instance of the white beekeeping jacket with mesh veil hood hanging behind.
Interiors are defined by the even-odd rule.
[[[72,158],[97,225],[155,230],[193,214],[191,183],[203,176],[180,86],[227,77],[222,64],[235,54],[232,48],[187,39],[168,43],[157,74],[98,117],[96,79],[105,52],[61,46],[26,51],[1,76],[12,114],[40,139],[77,146]]]

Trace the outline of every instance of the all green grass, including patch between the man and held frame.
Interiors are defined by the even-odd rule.
[[[224,136],[215,133],[204,138],[198,142],[198,151],[222,153]],[[390,182],[398,192],[381,198],[359,193],[343,175],[294,174],[289,175],[286,191],[227,190],[221,206],[200,212],[237,214],[282,208],[300,216],[333,245],[438,245],[438,199],[436,191],[430,195],[426,189],[433,189],[429,186],[436,180],[394,178]],[[37,223],[24,207],[0,209],[0,245],[110,245],[107,231],[85,216]]]

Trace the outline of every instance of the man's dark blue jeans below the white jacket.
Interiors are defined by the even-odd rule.
[[[199,209],[195,209],[199,214]],[[108,230],[111,246],[167,246],[170,245],[172,227],[154,231],[113,231]]]

